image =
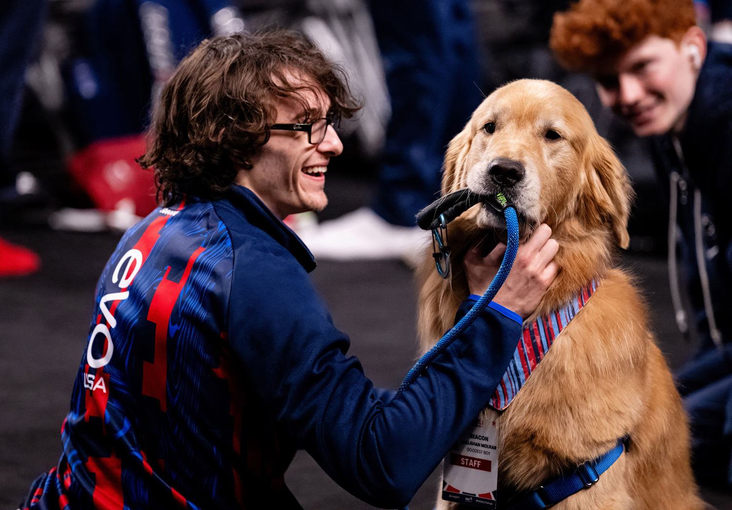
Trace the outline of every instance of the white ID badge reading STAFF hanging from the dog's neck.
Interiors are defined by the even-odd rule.
[[[496,508],[498,412],[487,408],[452,445],[444,460],[442,499]]]

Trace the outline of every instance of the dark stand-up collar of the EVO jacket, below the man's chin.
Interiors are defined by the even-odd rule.
[[[261,228],[272,239],[288,250],[300,265],[307,271],[315,269],[315,259],[307,246],[280,218],[276,217],[264,202],[252,190],[232,184],[226,191],[225,198],[239,211],[242,211],[247,222]]]

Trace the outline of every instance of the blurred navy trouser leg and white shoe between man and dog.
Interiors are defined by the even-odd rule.
[[[439,195],[447,143],[483,97],[470,1],[373,0],[369,7],[392,102],[376,199],[303,232],[316,259],[414,260],[426,239],[417,212]]]

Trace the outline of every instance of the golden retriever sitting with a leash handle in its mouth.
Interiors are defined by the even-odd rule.
[[[613,266],[617,247],[629,242],[632,189],[585,108],[544,80],[518,80],[494,91],[447,150],[442,192],[464,187],[504,192],[516,204],[521,239],[545,222],[559,242],[559,275],[525,324],[597,281],[595,293],[499,413],[499,500],[501,493],[535,490],[628,436],[627,451],[597,484],[556,509],[705,508],[690,468],[687,418],[649,331],[646,304],[629,275]],[[506,241],[504,219],[489,209],[479,204],[448,225],[449,279],[438,275],[431,249],[418,268],[423,350],[452,327],[468,297],[462,264],[468,247],[482,239],[488,253]],[[455,503],[440,499],[438,508]]]

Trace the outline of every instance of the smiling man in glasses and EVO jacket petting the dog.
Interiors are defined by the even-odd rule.
[[[326,206],[332,121],[355,110],[340,70],[288,32],[217,37],[182,61],[141,158],[165,206],[102,271],[61,460],[20,508],[299,509],[283,478],[299,448],[357,497],[408,503],[495,391],[558,245],[539,228],[400,400],[374,389],[282,221]],[[467,258],[471,290],[499,251]]]

